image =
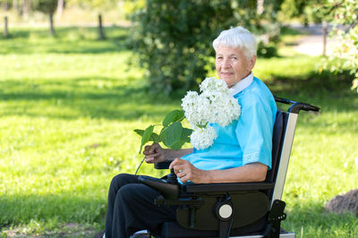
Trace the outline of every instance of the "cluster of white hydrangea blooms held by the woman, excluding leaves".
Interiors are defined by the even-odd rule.
[[[206,78],[200,84],[200,91],[201,94],[188,91],[182,99],[182,107],[194,130],[192,146],[206,149],[217,138],[217,133],[209,123],[218,123],[224,127],[239,118],[241,107],[237,99],[230,96],[225,81]]]

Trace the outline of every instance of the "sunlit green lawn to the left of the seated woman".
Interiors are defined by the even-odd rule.
[[[1,41],[0,225],[36,234],[53,230],[55,219],[99,229],[111,178],[141,160],[132,130],[178,105],[146,93],[143,71],[127,66],[125,38],[77,42],[41,32],[30,49],[31,38]],[[162,174],[151,166],[141,173]]]

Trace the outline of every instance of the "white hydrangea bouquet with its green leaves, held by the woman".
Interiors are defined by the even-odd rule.
[[[200,92],[187,92],[182,99],[183,110],[168,113],[162,124],[158,124],[162,126],[159,134],[153,132],[156,125],[149,125],[145,130],[135,129],[134,132],[141,135],[141,149],[149,141],[163,142],[170,149],[181,149],[185,142],[191,142],[196,149],[207,149],[217,138],[210,123],[226,126],[239,118],[241,107],[237,99],[230,96],[225,81],[206,78],[200,84]],[[193,130],[183,127],[184,118]]]

